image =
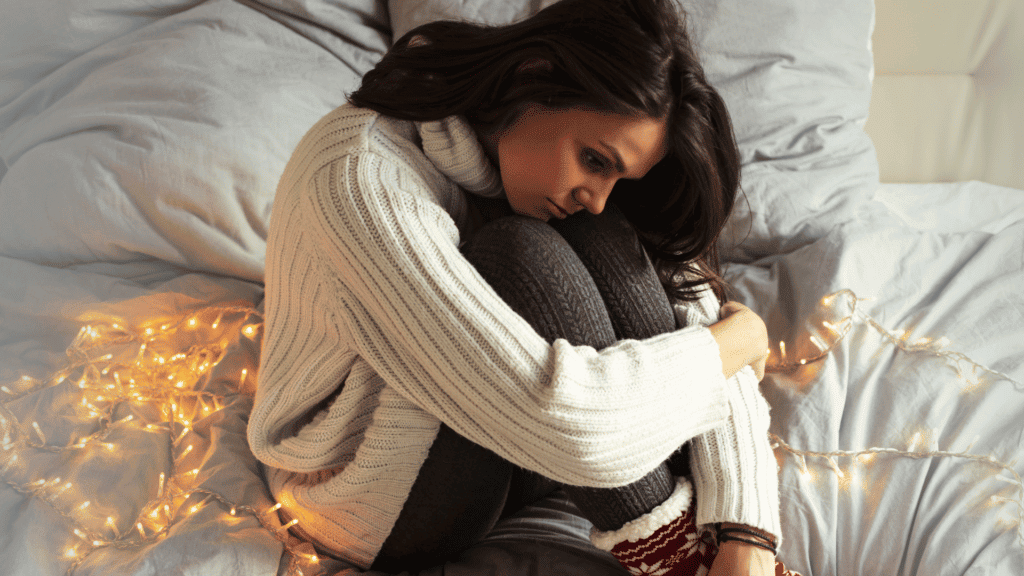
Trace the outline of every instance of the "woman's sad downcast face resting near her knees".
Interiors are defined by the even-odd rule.
[[[666,154],[664,120],[530,105],[497,135],[512,209],[547,221],[599,214],[618,178],[639,179]]]

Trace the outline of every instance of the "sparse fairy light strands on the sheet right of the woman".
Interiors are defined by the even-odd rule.
[[[910,330],[903,330],[899,332],[888,330],[885,326],[864,313],[857,305],[859,302],[870,299],[872,298],[860,298],[851,290],[841,290],[823,297],[820,301],[819,315],[812,315],[812,318],[808,319],[805,323],[805,331],[802,334],[802,337],[806,339],[806,341],[801,342],[801,345],[797,346],[801,349],[802,354],[794,356],[792,354],[792,348],[794,346],[791,345],[791,349],[787,351],[786,342],[784,340],[780,340],[778,344],[773,346],[771,349],[771,355],[769,356],[766,366],[766,372],[793,372],[802,367],[823,360],[842,343],[844,338],[846,338],[846,336],[853,329],[855,323],[861,322],[878,332],[885,341],[892,344],[900,353],[926,355],[944,361],[946,365],[955,373],[956,378],[964,382],[965,385],[963,386],[963,389],[965,392],[978,388],[981,385],[982,377],[986,374],[996,380],[1008,381],[1014,384],[1018,389],[1024,387],[1020,382],[1016,381],[1008,374],[983,366],[963,353],[946,349],[946,346],[949,344],[949,340],[945,337],[923,337],[911,341]],[[836,311],[843,304],[846,305],[847,311],[840,318],[836,319]],[[831,319],[822,318],[825,316],[829,316]],[[995,476],[995,479],[1015,486],[1017,489],[1017,497],[1007,498],[999,495],[992,495],[989,497],[989,502],[993,505],[1005,503],[1013,503],[1016,505],[1017,519],[1015,524],[1017,528],[1017,540],[1021,548],[1024,549],[1024,479],[1022,479],[1020,474],[1018,474],[1013,467],[1016,460],[1008,463],[1002,462],[990,455],[985,456],[973,454],[970,450],[973,448],[974,443],[961,452],[938,449],[923,450],[920,448],[926,445],[925,437],[926,435],[921,431],[914,433],[910,439],[909,446],[907,446],[907,449],[905,450],[897,448],[872,447],[862,450],[814,451],[795,448],[782,440],[778,435],[769,433],[772,448],[793,457],[797,461],[802,478],[811,478],[808,459],[821,460],[824,465],[826,465],[831,472],[836,475],[836,478],[841,486],[849,486],[851,479],[856,474],[855,469],[858,464],[865,464],[880,456],[897,456],[911,459],[955,458],[965,461],[978,462],[997,468],[999,475],[1006,472],[1009,478],[1007,476],[997,475]],[[849,460],[852,463],[852,466],[844,469],[844,467],[840,465],[840,460],[844,459]]]

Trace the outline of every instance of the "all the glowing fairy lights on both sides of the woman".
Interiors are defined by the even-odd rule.
[[[855,324],[861,323],[901,353],[944,360],[967,382],[968,388],[977,385],[977,379],[985,374],[1020,387],[1008,375],[945,349],[948,341],[944,338],[911,341],[909,331],[887,330],[858,307],[858,302],[865,299],[849,290],[825,296],[820,302],[821,313],[805,322],[799,336],[791,338],[788,345],[780,340],[773,346],[767,371],[791,372],[824,359]],[[172,527],[210,506],[218,506],[225,519],[243,516],[256,519],[262,529],[283,544],[289,556],[288,574],[312,576],[324,572],[311,544],[289,530],[299,521],[283,523],[279,518],[281,503],[253,505],[232,501],[202,486],[202,466],[186,465],[195,450],[189,439],[197,423],[224,410],[228,402],[225,396],[207,389],[211,375],[233,340],[248,338],[258,343],[261,330],[259,313],[246,306],[212,306],[170,321],[131,328],[116,322],[96,322],[82,328],[68,348],[67,366],[52,377],[37,380],[23,376],[0,386],[0,478],[18,493],[46,503],[66,521],[71,543],[61,554],[69,562],[69,575],[98,550],[140,549],[157,543]],[[241,368],[222,376],[231,381],[236,390],[244,390],[255,375],[249,374],[248,368]],[[63,437],[58,431],[44,429],[38,421],[20,421],[10,408],[18,399],[58,386],[67,387],[61,392],[77,395],[75,429],[85,430],[76,433],[67,442],[61,442]],[[171,449],[168,471],[151,479],[148,488],[153,497],[138,508],[134,518],[115,518],[102,512],[96,503],[98,494],[95,497],[80,494],[82,487],[66,478],[15,480],[29,475],[28,462],[40,455],[67,456],[70,460],[93,451],[117,454],[118,442],[126,430],[163,435]],[[921,449],[926,444],[921,433],[914,435],[905,450],[866,448],[825,452],[796,448],[776,435],[771,435],[771,441],[778,454],[795,460],[802,475],[810,476],[809,460],[820,461],[841,485],[850,484],[858,464],[877,457],[946,457],[993,466],[1000,475],[1009,476],[996,476],[997,479],[1018,490],[1017,499],[991,496],[991,501],[1017,505],[1018,539],[1024,547],[1024,482],[1013,464],[972,454],[969,452],[972,447],[963,452]],[[847,461],[850,465],[841,465]]]

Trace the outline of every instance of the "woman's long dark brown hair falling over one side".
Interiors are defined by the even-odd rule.
[[[404,120],[462,115],[485,132],[526,104],[667,118],[669,153],[609,201],[641,239],[669,295],[724,299],[717,240],[739,189],[725,102],[671,0],[561,0],[522,22],[434,22],[399,38],[348,96]]]

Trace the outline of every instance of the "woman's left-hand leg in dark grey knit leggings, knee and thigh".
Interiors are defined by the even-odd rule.
[[[596,347],[615,341],[586,266],[546,223],[521,216],[496,220],[470,239],[463,252],[549,340],[566,337]],[[457,556],[490,530],[513,484],[514,509],[557,488],[441,425],[374,569],[397,572]]]

